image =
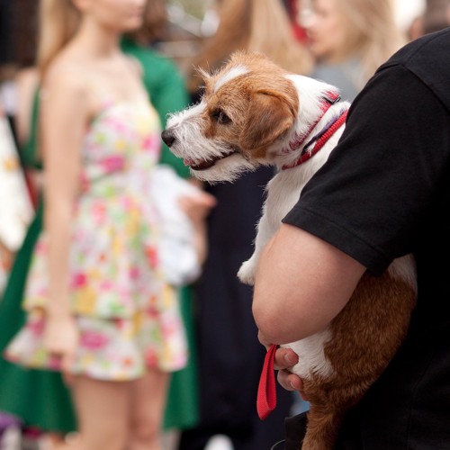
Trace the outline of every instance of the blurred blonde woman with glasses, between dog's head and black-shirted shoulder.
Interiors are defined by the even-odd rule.
[[[392,0],[311,0],[306,23],[317,65],[310,74],[352,101],[375,70],[406,43]]]

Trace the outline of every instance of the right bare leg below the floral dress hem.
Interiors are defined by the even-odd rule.
[[[161,435],[170,374],[148,369],[132,383],[127,450],[161,450]]]

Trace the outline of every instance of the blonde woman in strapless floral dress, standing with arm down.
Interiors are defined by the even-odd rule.
[[[169,374],[187,357],[146,193],[160,121],[138,63],[119,46],[144,6],[42,0],[40,8],[44,229],[27,322],[6,356],[66,376],[81,450],[161,449]]]

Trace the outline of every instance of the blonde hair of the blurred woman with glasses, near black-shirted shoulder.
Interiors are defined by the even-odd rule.
[[[392,0],[335,0],[347,31],[341,58],[360,58],[361,87],[375,70],[406,42],[406,35],[395,22]]]

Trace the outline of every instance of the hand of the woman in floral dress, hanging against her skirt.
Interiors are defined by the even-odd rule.
[[[78,347],[78,329],[71,316],[48,316],[44,331],[44,347],[59,360],[60,370],[67,373],[73,365]]]

